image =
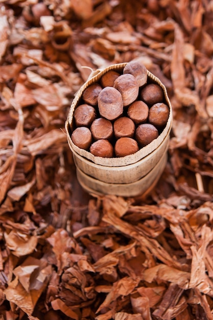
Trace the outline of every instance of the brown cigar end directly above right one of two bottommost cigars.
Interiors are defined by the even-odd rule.
[[[134,122],[128,117],[121,117],[115,120],[113,124],[115,138],[121,138],[122,136],[128,136],[132,138],[135,132]]]

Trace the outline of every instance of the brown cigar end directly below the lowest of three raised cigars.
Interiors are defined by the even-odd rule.
[[[111,121],[105,118],[98,118],[91,124],[90,131],[94,140],[108,139],[113,136],[113,126]]]

